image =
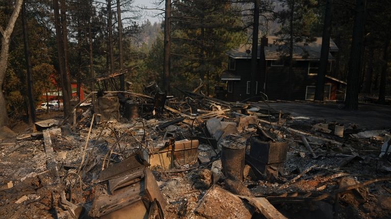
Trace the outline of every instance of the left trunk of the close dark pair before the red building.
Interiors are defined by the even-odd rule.
[[[59,12],[59,1],[53,0],[53,10],[54,10],[54,27],[55,27],[55,38],[57,41],[57,55],[58,55],[58,61],[59,61],[59,67],[58,71],[60,73],[61,78],[61,89],[63,91],[63,105],[64,105],[64,116],[67,117],[69,110],[70,110],[70,95],[69,95],[69,89],[68,84],[69,81],[67,81],[66,76],[66,70],[65,70],[65,63],[64,63],[64,43],[63,43],[63,37],[61,32],[61,20],[60,20],[60,12]]]

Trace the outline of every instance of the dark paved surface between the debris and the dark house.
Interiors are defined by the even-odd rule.
[[[265,104],[259,105],[267,109]],[[340,104],[316,103],[270,103],[275,110],[282,110],[292,116],[304,116],[311,119],[337,121],[345,124],[356,123],[359,128],[367,130],[390,129],[391,107],[381,105],[360,104],[358,111],[340,109]]]

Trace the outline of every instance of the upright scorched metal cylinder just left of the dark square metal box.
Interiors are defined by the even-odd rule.
[[[221,165],[225,176],[231,179],[243,179],[245,150],[244,145],[222,143]]]

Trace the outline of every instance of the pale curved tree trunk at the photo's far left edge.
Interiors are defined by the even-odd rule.
[[[4,77],[7,73],[8,66],[8,50],[10,48],[10,38],[15,27],[15,22],[22,8],[23,0],[17,0],[14,11],[11,14],[6,29],[0,26],[2,38],[2,51],[0,52],[0,127],[6,126],[8,123],[7,104],[3,93]]]

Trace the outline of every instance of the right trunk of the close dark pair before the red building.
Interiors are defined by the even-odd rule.
[[[67,5],[65,0],[60,1],[61,5],[61,30],[64,44],[64,65],[65,65],[65,85],[67,86],[69,100],[72,99],[71,72],[69,69],[69,46],[68,46],[68,29],[67,29]],[[69,108],[70,110],[70,108]],[[69,113],[69,112],[68,112]]]

